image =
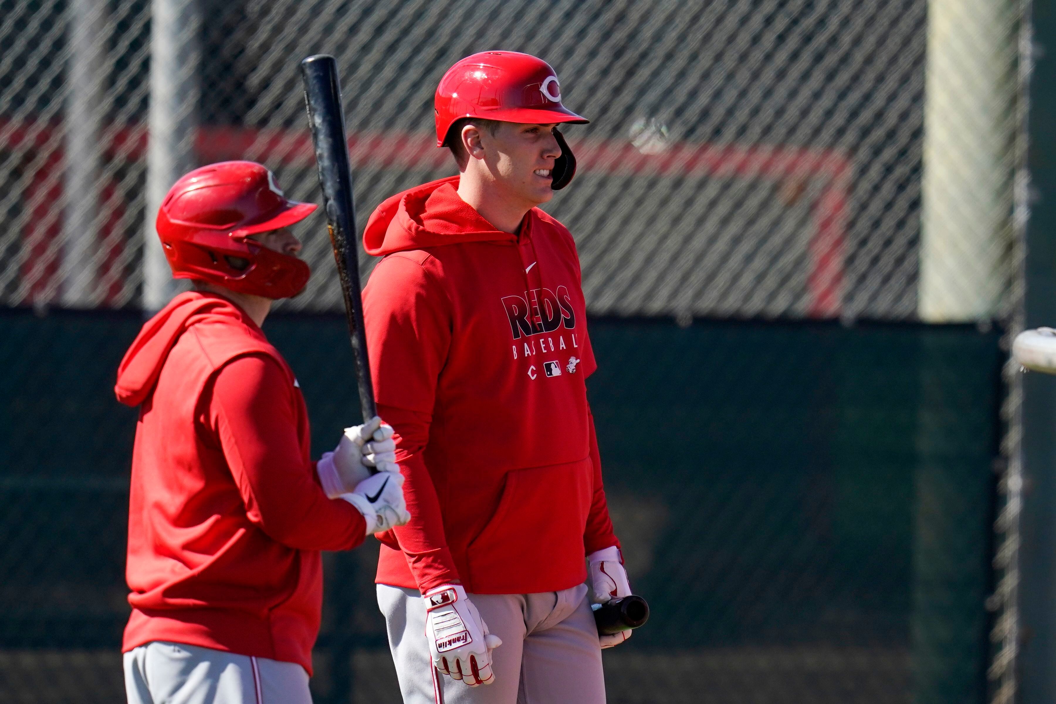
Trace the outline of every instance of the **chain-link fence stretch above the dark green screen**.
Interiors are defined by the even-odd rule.
[[[181,118],[173,149],[262,160],[313,199],[298,61],[335,54],[365,214],[453,172],[430,136],[433,91],[461,56],[502,46],[546,57],[593,120],[570,130],[581,175],[552,204],[592,311],[1005,309],[1017,0],[154,6],[170,43],[195,47],[152,59],[145,0],[4,1],[0,301],[138,304],[152,60]],[[326,237],[318,221],[303,234],[317,275],[289,306],[333,309]]]

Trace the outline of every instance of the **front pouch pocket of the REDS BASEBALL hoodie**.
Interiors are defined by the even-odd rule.
[[[525,594],[583,582],[592,495],[589,457],[507,474],[495,515],[467,551],[470,591]]]

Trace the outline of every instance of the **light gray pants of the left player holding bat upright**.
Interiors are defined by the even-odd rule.
[[[125,653],[129,704],[312,704],[297,663],[154,641]]]

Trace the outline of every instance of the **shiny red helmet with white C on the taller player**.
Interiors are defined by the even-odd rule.
[[[561,84],[549,63],[518,52],[482,52],[448,69],[436,87],[436,146],[445,147],[455,120],[480,117],[502,122],[586,123],[561,104]],[[568,185],[576,174],[576,157],[561,132],[553,130],[561,156],[553,165],[552,188]]]

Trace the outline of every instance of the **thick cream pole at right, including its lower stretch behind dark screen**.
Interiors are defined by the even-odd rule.
[[[1018,127],[1017,0],[929,0],[921,183],[918,315],[928,323],[988,322],[1012,274]],[[985,668],[988,573],[978,557],[992,468],[966,459],[974,436],[941,410],[984,398],[980,380],[949,374],[963,350],[925,335],[920,347],[912,616],[914,702],[982,701],[954,683]]]

